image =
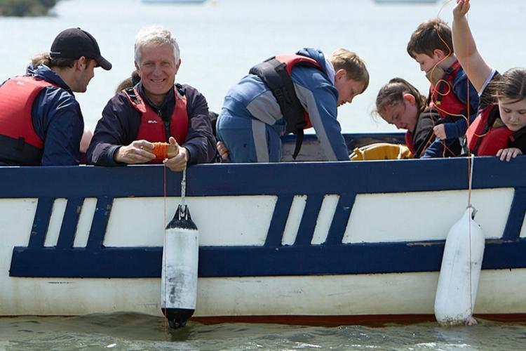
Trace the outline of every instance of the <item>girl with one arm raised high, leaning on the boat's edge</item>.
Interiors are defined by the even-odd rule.
[[[512,68],[501,75],[487,65],[466,19],[469,8],[468,0],[457,0],[453,9],[455,51],[480,93],[478,117],[466,133],[468,148],[477,156],[510,161],[526,152],[526,69]]]

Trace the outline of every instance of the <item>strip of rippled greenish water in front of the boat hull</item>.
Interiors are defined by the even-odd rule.
[[[191,322],[173,331],[162,318],[132,313],[0,318],[1,350],[518,350],[525,340],[526,324],[488,321],[452,328]]]

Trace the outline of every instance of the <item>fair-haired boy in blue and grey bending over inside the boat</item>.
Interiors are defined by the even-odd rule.
[[[281,135],[297,134],[295,158],[303,129],[312,126],[328,161],[349,161],[337,107],[368,84],[363,61],[343,48],[329,58],[313,48],[276,56],[252,67],[227,93],[217,136],[231,161],[279,162]]]

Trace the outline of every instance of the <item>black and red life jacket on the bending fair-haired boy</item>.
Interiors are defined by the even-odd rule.
[[[292,154],[294,159],[302,147],[303,130],[312,126],[309,114],[297,98],[294,82],[290,77],[292,68],[296,66],[314,67],[323,72],[318,61],[297,54],[274,56],[255,65],[249,72],[261,78],[276,98],[286,122],[285,134],[297,134],[296,147]]]

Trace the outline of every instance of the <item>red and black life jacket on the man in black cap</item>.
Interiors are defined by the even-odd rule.
[[[0,159],[8,164],[39,165],[43,141],[34,131],[32,107],[47,86],[34,77],[14,77],[0,87]]]

